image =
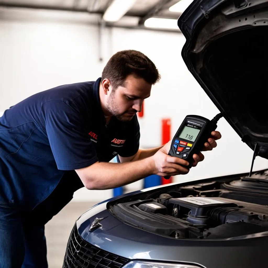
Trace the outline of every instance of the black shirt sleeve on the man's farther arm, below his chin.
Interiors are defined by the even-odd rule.
[[[140,147],[140,125],[135,115],[133,119],[126,124],[126,142],[122,151],[119,153],[121,157],[131,157],[135,155]]]

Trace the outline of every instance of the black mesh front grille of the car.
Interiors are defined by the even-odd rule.
[[[121,268],[128,260],[101,250],[82,239],[75,224],[69,237],[62,268]]]

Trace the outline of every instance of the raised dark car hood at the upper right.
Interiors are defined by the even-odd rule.
[[[268,159],[268,0],[194,0],[182,57],[242,141]]]

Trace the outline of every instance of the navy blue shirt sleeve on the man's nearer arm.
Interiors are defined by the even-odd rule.
[[[98,161],[84,118],[64,101],[42,104],[40,120],[59,170],[85,168]]]

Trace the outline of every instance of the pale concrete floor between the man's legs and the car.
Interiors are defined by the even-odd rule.
[[[76,219],[94,204],[91,202],[70,202],[46,224],[45,235],[49,268],[62,267],[66,245]]]

